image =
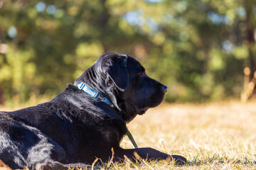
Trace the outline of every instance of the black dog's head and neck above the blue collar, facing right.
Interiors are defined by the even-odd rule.
[[[114,52],[100,56],[75,85],[80,81],[109,98],[127,122],[158,106],[167,90],[148,77],[142,64],[133,57]]]

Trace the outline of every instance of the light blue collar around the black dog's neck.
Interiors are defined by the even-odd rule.
[[[83,82],[80,82],[80,84],[78,84],[78,89],[85,91],[85,93],[89,94],[90,96],[94,97],[94,98],[98,98],[101,101],[104,101],[105,103],[107,103],[110,107],[114,108],[114,105],[107,99],[105,98],[105,96],[103,96],[102,94],[100,94],[97,91],[93,91],[92,89],[90,89],[88,86],[86,86]]]

